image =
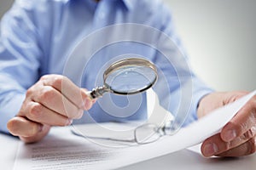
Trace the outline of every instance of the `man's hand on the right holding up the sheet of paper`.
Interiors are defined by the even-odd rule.
[[[201,99],[198,116],[205,116],[218,107],[234,102],[246,92],[212,93]],[[201,145],[203,156],[247,156],[256,151],[256,96],[237,112],[220,133]]]

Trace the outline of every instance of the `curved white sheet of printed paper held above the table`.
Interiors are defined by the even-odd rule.
[[[123,148],[104,147],[74,135],[70,127],[54,127],[37,144],[20,142],[14,170],[114,169],[163,156],[199,144],[212,134],[218,133],[255,94],[256,91],[212,111],[210,115],[182,128],[178,133],[162,137],[151,144]]]

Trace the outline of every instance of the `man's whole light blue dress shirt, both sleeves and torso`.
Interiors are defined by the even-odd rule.
[[[170,64],[157,49],[140,42],[125,41],[108,44],[90,59],[83,58],[81,62],[86,65],[81,73],[76,72],[79,61],[67,67],[70,54],[84,37],[90,37],[91,33],[106,26],[122,23],[140,24],[163,31],[184,54],[174,30],[172,15],[158,0],[102,0],[100,3],[92,0],[16,0],[1,21],[0,131],[8,132],[6,124],[20,110],[26,90],[43,75],[65,75],[79,87],[91,89],[102,83],[100,73],[106,63],[120,56],[145,57],[158,66],[162,76],[154,90],[160,104],[174,115],[182,107],[180,82],[186,84],[186,78],[182,80],[182,77],[178,77],[177,71],[180,71],[179,75],[191,79],[188,87],[192,94],[188,94],[190,102],[186,105],[189,105],[189,111],[183,125],[195,121],[201,97],[211,93],[212,89],[195,77],[189,67],[183,67],[183,60],[178,57],[173,56]],[[122,35],[125,35],[125,31]],[[108,36],[92,39],[88,46],[97,46]],[[174,49],[170,47],[167,50]],[[188,61],[186,56],[184,59]],[[79,79],[78,74],[81,75]],[[167,90],[163,88],[163,82],[166,82]],[[78,123],[146,119],[146,94],[129,97],[107,94],[90,111],[85,112]]]

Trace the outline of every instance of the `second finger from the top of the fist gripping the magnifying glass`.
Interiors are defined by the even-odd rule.
[[[27,94],[31,96],[33,101],[44,105],[49,110],[55,111],[62,116],[74,119],[80,118],[83,114],[82,109],[73,105],[70,100],[50,86],[34,86],[28,89]]]

